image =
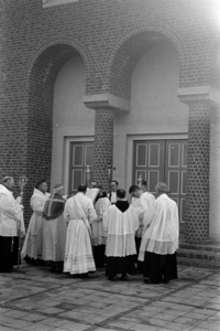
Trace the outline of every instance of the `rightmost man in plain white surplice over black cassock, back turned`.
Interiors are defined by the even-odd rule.
[[[139,259],[144,260],[144,282],[168,282],[177,278],[176,250],[179,221],[175,201],[167,196],[165,183],[156,185],[157,199],[144,217]]]

